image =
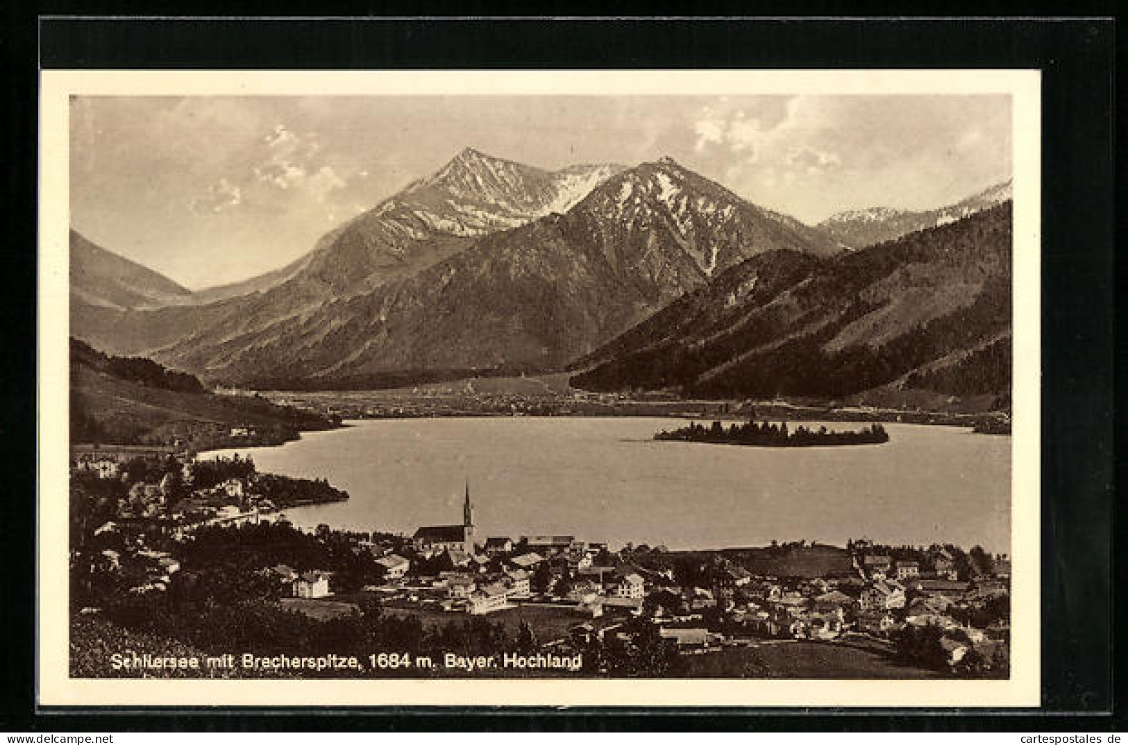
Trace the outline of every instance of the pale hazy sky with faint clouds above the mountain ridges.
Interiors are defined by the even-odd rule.
[[[71,99],[71,227],[192,290],[279,268],[462,148],[543,168],[669,156],[816,223],[1011,178],[1006,96]]]

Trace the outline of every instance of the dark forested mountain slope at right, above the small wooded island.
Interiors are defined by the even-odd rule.
[[[572,383],[822,400],[891,388],[1005,406],[1011,238],[1004,203],[829,258],[763,254],[578,361]]]

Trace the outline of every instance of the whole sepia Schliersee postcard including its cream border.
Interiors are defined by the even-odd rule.
[[[60,700],[1037,703],[1037,73],[146,74],[45,76]]]

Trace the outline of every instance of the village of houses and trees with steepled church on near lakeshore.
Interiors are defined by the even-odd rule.
[[[613,550],[573,535],[479,535],[468,485],[455,524],[421,526],[412,535],[328,525],[302,532],[285,508],[310,497],[294,494],[297,482],[272,481],[280,478],[237,458],[77,449],[72,484],[82,485],[79,491],[113,485],[118,496],[96,505],[80,499],[85,514],[72,515],[72,577],[87,588],[76,612],[97,613],[99,593],[169,594],[186,573],[204,571],[197,565],[206,538],[249,557],[237,571],[226,569],[253,574],[249,592],[315,621],[355,619],[374,605],[382,618],[424,624],[479,617],[528,627],[537,648],[562,655],[593,640],[629,645],[647,628],[691,660],[803,641],[899,655],[949,674],[1005,676],[1008,669],[1010,560],[978,547],[966,553],[950,544],[860,539],[845,549],[799,541]],[[310,484],[318,487],[315,499],[347,497]],[[259,550],[264,541],[273,548]],[[280,552],[280,541],[300,550]],[[273,560],[280,556],[292,558]],[[926,650],[919,640],[929,635]]]

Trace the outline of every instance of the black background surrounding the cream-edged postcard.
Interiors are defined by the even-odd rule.
[[[158,6],[160,3],[157,3]],[[245,3],[247,5],[247,3]],[[200,12],[205,6],[197,6]],[[473,7],[473,6],[468,6]],[[227,6],[230,8],[230,6]],[[45,9],[42,9],[45,11]],[[53,12],[79,11],[60,3]],[[140,9],[130,7],[133,12]],[[334,9],[338,15],[362,9]],[[481,10],[481,8],[479,8]],[[731,10],[731,9],[730,9]],[[838,12],[846,10],[835,8]],[[982,10],[982,8],[980,8]],[[121,10],[120,10],[121,11]],[[148,10],[151,12],[151,10]],[[603,12],[614,12],[614,5]],[[1075,8],[1076,12],[1077,9]],[[1123,729],[1112,716],[1111,19],[108,19],[6,6],[7,220],[0,546],[8,730]],[[221,12],[230,12],[224,10]],[[254,7],[247,14],[279,12]],[[417,11],[416,11],[417,12]],[[496,12],[496,10],[495,10]],[[520,11],[518,11],[520,12]],[[517,15],[517,14],[514,14]],[[1042,71],[1042,708],[954,711],[35,710],[38,69],[1026,68]],[[56,550],[58,547],[45,547]],[[849,685],[844,682],[844,685]],[[1116,688],[1119,691],[1119,686]],[[316,702],[311,701],[311,704]],[[340,712],[340,711],[337,711]],[[1073,712],[1072,716],[1067,716]],[[1078,712],[1090,716],[1079,717]],[[799,716],[803,715],[803,716]]]

